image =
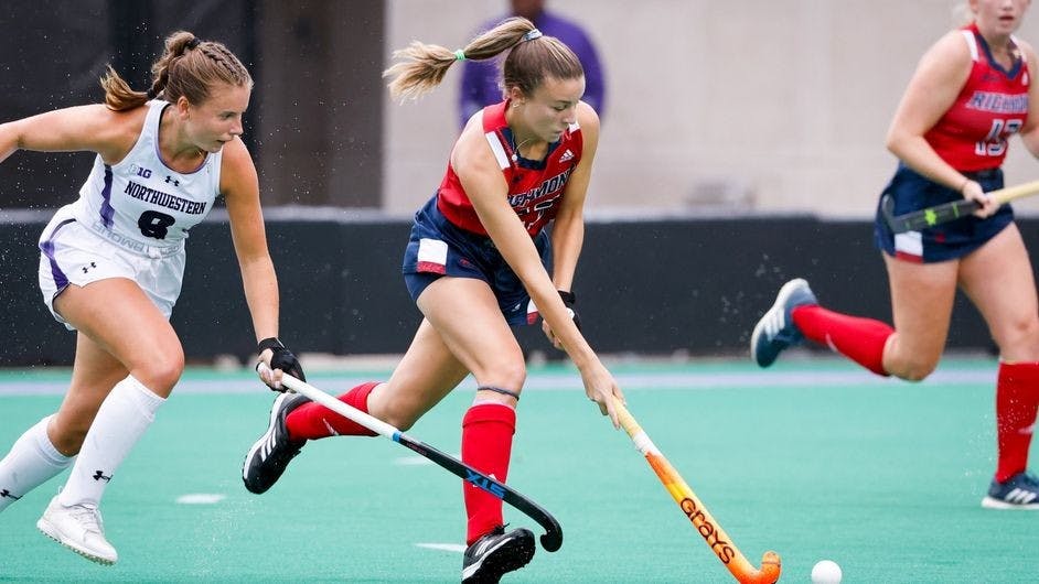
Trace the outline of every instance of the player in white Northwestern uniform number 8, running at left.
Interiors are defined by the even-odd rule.
[[[105,488],[184,369],[169,317],[181,290],[188,230],[223,195],[253,316],[257,352],[302,376],[277,339],[278,283],[267,250],[256,167],[242,118],[253,79],[223,44],[175,32],[152,65],[148,91],[108,69],[105,104],[0,125],[0,161],[17,150],[92,151],[75,203],[40,237],[40,289],[77,332],[68,392],[0,461],[0,510],[72,466],[36,522],[47,537],[101,564],[118,555],[98,511]]]

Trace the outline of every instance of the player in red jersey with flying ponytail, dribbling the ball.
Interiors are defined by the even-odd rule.
[[[462,420],[462,459],[505,482],[526,378],[510,326],[539,315],[580,371],[588,398],[614,426],[612,398],[623,396],[572,311],[599,136],[595,110],[581,101],[577,57],[529,21],[510,19],[463,50],[415,42],[396,54],[401,61],[386,76],[395,97],[417,97],[452,64],[501,53],[507,53],[505,99],[470,118],[437,194],[415,216],[404,274],[425,318],[388,381],[364,383],[340,399],[407,430],[472,375],[478,389]],[[545,227],[551,221],[549,239]],[[270,426],[247,455],[246,487],[270,488],[306,441],[351,434],[371,433],[306,398],[279,397]],[[496,582],[529,562],[534,536],[504,530],[501,499],[468,483],[463,495],[469,521],[462,580]]]

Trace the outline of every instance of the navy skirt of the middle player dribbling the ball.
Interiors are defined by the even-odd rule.
[[[544,230],[534,238],[542,264],[551,270],[551,244]],[[531,296],[490,237],[467,231],[437,208],[436,195],[415,214],[404,253],[404,281],[411,300],[442,275],[475,278],[491,286],[510,325],[528,324]]]

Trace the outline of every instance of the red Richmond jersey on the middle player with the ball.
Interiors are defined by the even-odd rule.
[[[513,151],[512,131],[505,122],[506,107],[507,100],[483,108],[483,136],[508,184],[508,204],[533,237],[558,213],[570,173],[581,161],[583,139],[580,127],[572,123],[558,142],[548,144],[544,161],[522,159]],[[437,191],[437,208],[456,226],[488,235],[450,161]]]

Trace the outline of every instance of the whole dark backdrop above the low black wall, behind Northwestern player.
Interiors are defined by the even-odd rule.
[[[107,64],[143,90],[163,40],[223,42],[255,82],[243,137],[270,204],[378,206],[383,2],[33,0],[0,10],[0,120],[99,102]],[[357,79],[374,79],[360,83]],[[0,209],[75,198],[89,153],[18,152],[0,164]]]

